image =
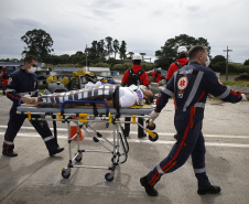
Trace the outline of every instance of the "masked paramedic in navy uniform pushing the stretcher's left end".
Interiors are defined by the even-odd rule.
[[[7,157],[17,157],[18,153],[13,151],[14,149],[14,138],[18,135],[21,126],[23,125],[26,116],[17,114],[17,107],[19,100],[24,95],[37,96],[37,79],[34,72],[37,67],[37,60],[34,56],[26,56],[24,58],[24,66],[21,69],[18,69],[11,73],[9,82],[7,85],[7,97],[13,101],[13,105],[10,110],[10,119],[8,128],[4,135],[2,154]],[[24,101],[24,100],[23,100]],[[34,103],[34,101],[24,101],[24,103]],[[45,120],[31,120],[31,124],[35,130],[43,138],[50,155],[54,155],[64,150],[59,148],[56,139],[50,130],[50,127]],[[26,143],[29,146],[29,142]]]

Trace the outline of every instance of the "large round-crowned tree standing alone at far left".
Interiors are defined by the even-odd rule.
[[[54,51],[52,49],[54,42],[51,35],[41,29],[28,31],[21,40],[26,43],[22,55],[32,54],[39,60],[43,60]]]

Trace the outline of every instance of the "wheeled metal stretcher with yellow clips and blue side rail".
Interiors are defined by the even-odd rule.
[[[87,103],[93,104],[93,106],[76,106],[73,108],[65,108],[65,105],[67,104],[77,104],[77,103]],[[20,103],[21,104],[21,103]],[[96,104],[104,104],[106,108],[97,108]],[[108,105],[105,101],[98,101],[98,100],[66,100],[61,105],[61,108],[36,108],[34,106],[19,106],[18,107],[18,114],[24,114],[28,115],[29,120],[47,120],[47,117],[50,117],[48,120],[53,121],[54,126],[54,135],[57,137],[56,131],[56,121],[62,121],[67,124],[68,129],[68,154],[69,154],[69,161],[66,168],[63,168],[62,170],[62,176],[64,179],[68,179],[71,176],[71,169],[72,168],[91,168],[91,169],[106,169],[110,170],[110,173],[107,173],[105,175],[105,179],[107,181],[112,181],[115,175],[115,169],[120,163],[124,163],[128,158],[129,152],[129,143],[127,141],[127,138],[123,136],[121,124],[134,124],[143,128],[148,135],[149,139],[151,141],[156,141],[159,136],[156,132],[152,132],[155,128],[153,122],[149,122],[147,120],[147,127],[141,126],[137,122],[137,118],[149,118],[149,114],[152,111],[152,106],[144,105],[144,106],[134,106],[131,108],[109,108]],[[33,117],[32,115],[41,117]],[[131,121],[123,121],[120,120],[124,117],[131,117]],[[71,125],[69,122],[74,121],[77,124],[77,133],[75,136],[71,136]],[[112,137],[113,138],[106,138],[100,132],[94,129],[91,126],[95,122],[105,122],[107,126],[112,126]],[[84,144],[84,142],[80,142],[79,140],[79,128],[82,129],[85,137],[89,137],[93,139],[94,142],[99,143],[101,149],[99,150],[86,150],[80,149],[80,146]],[[91,130],[91,131],[89,131]],[[72,152],[72,141],[77,138],[77,152],[73,155]],[[83,153],[85,152],[95,152],[95,153],[110,153],[111,154],[111,165],[109,167],[99,167],[99,165],[79,165]]]

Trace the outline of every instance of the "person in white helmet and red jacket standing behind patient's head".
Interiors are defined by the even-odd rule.
[[[140,86],[144,85],[149,88],[150,80],[147,76],[147,73],[142,69],[142,66],[140,65],[142,61],[142,56],[140,54],[134,54],[132,56],[132,63],[133,66],[131,68],[128,68],[122,77],[121,86]],[[138,90],[140,92],[140,90]],[[141,94],[141,93],[140,93]],[[130,121],[130,117],[126,117],[124,121]],[[139,118],[138,122],[143,126],[143,119]],[[123,133],[126,137],[130,133],[130,124],[124,124]],[[141,127],[138,126],[138,138],[145,137],[147,133],[143,131]]]

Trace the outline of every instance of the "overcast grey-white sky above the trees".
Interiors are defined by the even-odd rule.
[[[180,34],[207,39],[210,55],[249,58],[249,0],[0,0],[0,58],[21,58],[26,31],[42,29],[54,54],[75,54],[111,36],[154,56]]]

